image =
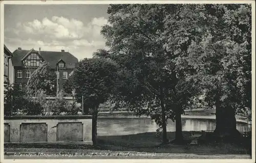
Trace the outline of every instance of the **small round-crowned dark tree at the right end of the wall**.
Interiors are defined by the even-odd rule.
[[[84,110],[90,110],[92,120],[92,138],[96,144],[97,116],[100,104],[109,100],[115,90],[117,65],[109,59],[92,58],[80,61],[73,73],[73,86],[76,100],[82,102]]]

